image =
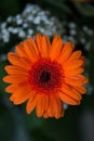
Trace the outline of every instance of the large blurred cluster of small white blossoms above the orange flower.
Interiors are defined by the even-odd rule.
[[[39,5],[31,4],[27,4],[22,14],[9,16],[1,23],[0,30],[0,40],[3,43],[10,42],[14,35],[22,40],[28,36],[33,37],[36,33],[50,37],[63,33],[62,23],[57,17],[51,16],[49,11],[42,10]]]

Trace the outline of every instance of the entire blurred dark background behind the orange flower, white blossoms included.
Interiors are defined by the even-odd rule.
[[[4,91],[6,53],[35,34],[59,34],[85,55],[88,93],[81,105],[65,105],[61,119],[26,114]],[[0,141],[94,141],[94,2],[93,0],[0,0]]]

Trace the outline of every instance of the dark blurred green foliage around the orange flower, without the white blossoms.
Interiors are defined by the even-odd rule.
[[[24,4],[22,4],[23,2]],[[84,24],[94,30],[94,4],[77,3],[70,0],[1,0],[0,22],[9,15],[19,13],[23,9],[22,5],[25,7],[27,2],[50,10],[52,15],[56,15],[61,22],[76,22],[78,30]],[[16,42],[18,40],[12,40],[6,51],[1,51],[0,54],[8,52],[11,46],[15,46]],[[90,43],[89,50],[85,51],[84,47],[80,47],[80,49],[88,60],[86,75],[92,88],[88,87],[88,95],[83,95],[81,105],[69,106],[65,111],[65,116],[57,120],[37,118],[35,112],[27,115],[25,112],[26,103],[15,106],[9,101],[10,95],[4,91],[6,84],[2,81],[2,77],[5,75],[4,65],[9,62],[0,61],[0,141],[94,141],[94,133],[89,131],[90,128],[94,131],[94,126],[90,127],[90,120],[94,125],[94,90],[91,92],[94,87],[93,39]]]

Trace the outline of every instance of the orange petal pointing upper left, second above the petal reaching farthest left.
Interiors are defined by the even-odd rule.
[[[8,59],[13,65],[19,66],[22,68],[30,69],[31,67],[31,62],[29,62],[29,60],[27,60],[26,57],[19,57],[15,53],[9,52]]]

